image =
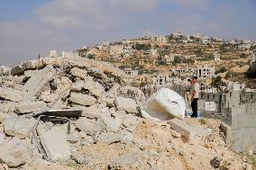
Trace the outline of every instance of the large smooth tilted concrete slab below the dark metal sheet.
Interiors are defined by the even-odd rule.
[[[57,126],[40,134],[41,145],[51,161],[68,160],[71,151],[66,131]]]

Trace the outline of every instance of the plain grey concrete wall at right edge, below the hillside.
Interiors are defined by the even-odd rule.
[[[232,136],[236,151],[256,151],[256,103],[232,109]]]

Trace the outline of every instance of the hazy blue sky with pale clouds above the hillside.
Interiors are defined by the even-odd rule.
[[[256,40],[256,0],[0,0],[0,65],[182,31]]]

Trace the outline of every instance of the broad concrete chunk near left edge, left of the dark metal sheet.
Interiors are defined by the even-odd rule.
[[[3,121],[5,134],[19,139],[28,138],[36,125],[36,120],[23,117],[7,117]]]

